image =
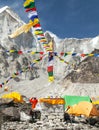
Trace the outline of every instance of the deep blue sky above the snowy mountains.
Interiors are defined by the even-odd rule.
[[[0,0],[28,22],[24,0]],[[35,0],[42,29],[60,38],[86,38],[99,35],[99,0]]]

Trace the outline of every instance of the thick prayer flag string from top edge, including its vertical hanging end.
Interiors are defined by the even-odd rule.
[[[26,0],[24,2],[24,8],[26,9],[26,12],[28,12],[28,17],[30,20],[34,21],[36,18],[38,18],[37,14],[37,9],[35,7],[35,2],[34,0]],[[38,22],[34,27],[34,34],[37,37],[37,40],[39,43],[43,45],[43,48],[45,49],[46,52],[49,52],[48,55],[48,76],[49,76],[49,81],[54,81],[54,76],[53,76],[53,55],[51,52],[53,52],[53,44],[52,41],[50,43],[47,42],[44,32],[40,26],[40,22]],[[51,65],[50,65],[51,64]],[[50,71],[49,71],[50,70]]]

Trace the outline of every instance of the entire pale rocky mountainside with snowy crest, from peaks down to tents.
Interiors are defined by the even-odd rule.
[[[22,69],[31,64],[33,59],[37,59],[39,55],[16,55],[5,53],[9,49],[17,50],[31,50],[35,49],[35,38],[31,32],[21,34],[15,39],[10,39],[9,34],[14,32],[16,28],[24,24],[24,22],[15,14],[9,7],[0,9],[0,82],[5,81],[12,73]],[[77,53],[91,53],[98,52],[99,36],[95,38],[65,38],[60,39],[51,32],[46,32],[45,36],[48,41],[53,39],[55,51],[60,52],[77,52]],[[97,50],[95,50],[97,49]],[[94,51],[95,50],[95,51]],[[98,65],[99,59],[95,57],[82,58],[80,56],[72,57],[68,55],[62,57],[70,64],[60,62],[56,57],[54,58],[54,75],[55,82],[48,82],[48,75],[46,71],[47,56],[43,58],[42,62],[38,63],[33,71],[28,71],[19,76],[19,80],[11,80],[6,86],[9,91],[19,91],[21,94],[28,97],[46,97],[48,95],[63,95],[63,94],[77,94],[77,95],[98,95],[99,83]],[[72,67],[72,63],[75,67]],[[95,63],[95,64],[94,64]],[[80,70],[80,71],[76,71]],[[36,78],[36,74],[38,75]],[[76,84],[75,84],[76,83]],[[83,84],[84,83],[84,84]],[[86,92],[89,86],[89,93]],[[77,87],[78,86],[78,87]],[[79,87],[80,86],[80,87]],[[78,89],[78,91],[76,91]],[[82,91],[82,89],[84,91]],[[92,92],[94,89],[94,93]],[[0,90],[4,93],[4,88]],[[6,93],[6,92],[5,92]]]

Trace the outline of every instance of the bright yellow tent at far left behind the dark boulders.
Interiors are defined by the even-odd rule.
[[[18,92],[11,92],[8,94],[4,94],[2,98],[11,98],[14,100],[14,102],[20,102],[20,103],[24,102],[22,96]]]

